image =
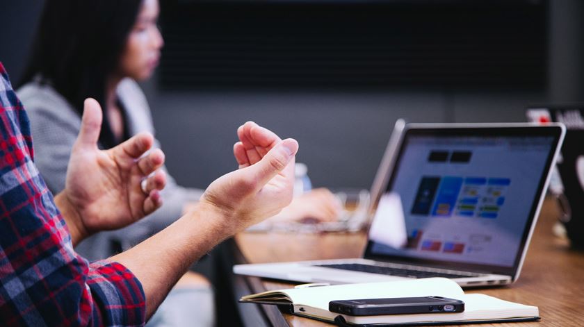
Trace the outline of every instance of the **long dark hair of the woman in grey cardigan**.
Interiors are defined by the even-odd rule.
[[[50,83],[79,115],[83,100],[106,101],[106,81],[116,72],[142,0],[47,0],[19,86]],[[104,113],[102,145],[116,144]]]

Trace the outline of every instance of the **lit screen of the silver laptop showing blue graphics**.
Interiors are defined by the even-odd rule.
[[[366,258],[512,274],[560,135],[557,126],[408,128],[378,203]],[[387,206],[403,213],[402,230],[400,224],[375,224],[390,219],[380,210]]]

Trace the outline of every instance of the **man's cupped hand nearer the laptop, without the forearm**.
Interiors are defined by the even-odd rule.
[[[240,142],[234,155],[240,169],[211,183],[201,197],[202,205],[221,212],[222,228],[237,233],[277,214],[292,200],[294,156],[298,142],[284,141],[254,122],[237,131]]]

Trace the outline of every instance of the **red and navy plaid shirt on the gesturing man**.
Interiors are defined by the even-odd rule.
[[[0,75],[0,325],[142,326],[145,294],[136,276],[73,250],[1,63]]]

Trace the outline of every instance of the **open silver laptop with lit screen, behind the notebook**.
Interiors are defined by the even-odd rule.
[[[236,265],[305,283],[446,277],[463,287],[519,277],[562,124],[398,121],[371,187],[362,258]]]

